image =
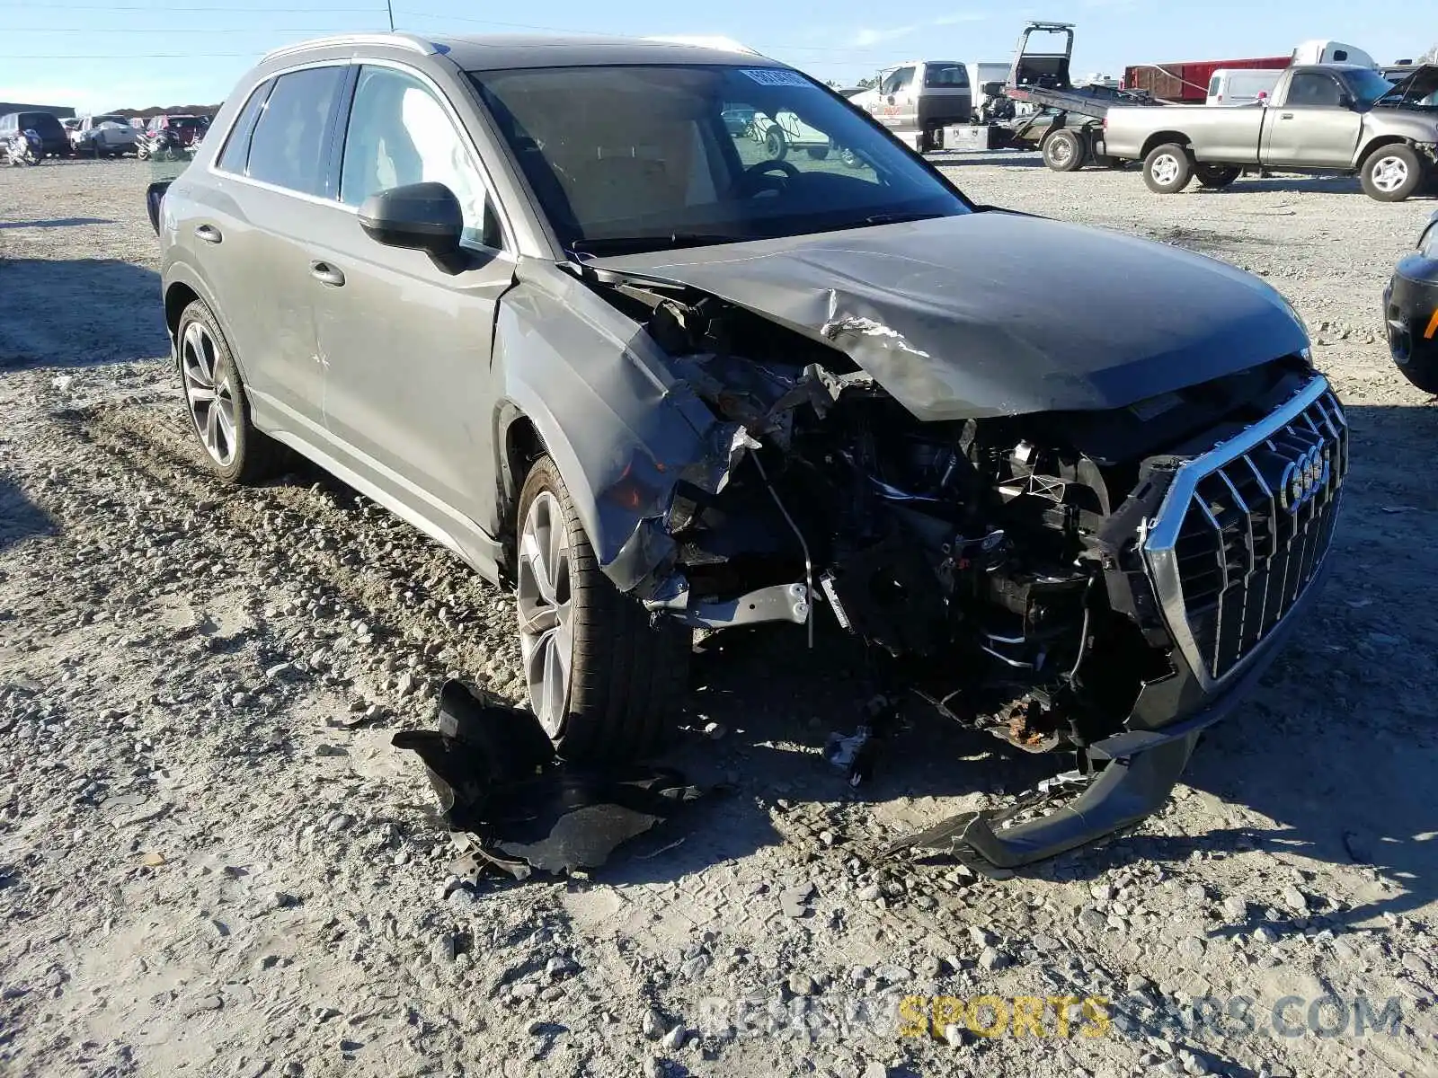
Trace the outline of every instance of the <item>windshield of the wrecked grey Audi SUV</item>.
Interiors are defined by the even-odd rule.
[[[784,68],[536,68],[470,78],[572,252],[968,213],[869,119]]]

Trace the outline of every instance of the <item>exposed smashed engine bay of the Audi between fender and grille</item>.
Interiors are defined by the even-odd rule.
[[[827,607],[894,683],[1030,752],[1117,733],[1146,684],[1175,677],[1146,522],[1182,460],[1313,378],[1287,356],[1120,410],[919,423],[843,352],[743,308],[638,279],[594,287],[746,450],[716,493],[676,489],[674,572],[650,609],[812,632]],[[825,328],[841,332],[883,328]]]

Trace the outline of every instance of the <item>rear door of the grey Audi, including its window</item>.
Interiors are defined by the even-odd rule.
[[[332,198],[326,152],[349,70],[302,68],[256,91],[216,161],[216,183],[196,188],[203,203],[180,221],[224,308],[260,425],[306,440],[324,430],[324,369],[305,237]]]

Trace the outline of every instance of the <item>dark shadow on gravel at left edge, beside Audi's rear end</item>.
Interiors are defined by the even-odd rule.
[[[92,367],[170,352],[160,275],[119,259],[0,259],[0,368]]]

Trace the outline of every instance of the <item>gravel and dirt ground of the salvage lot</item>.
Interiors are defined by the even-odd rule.
[[[994,880],[871,854],[1031,760],[917,716],[854,796],[818,755],[854,723],[848,663],[732,637],[673,756],[732,793],[592,878],[476,890],[388,740],[447,671],[518,697],[508,598],[319,473],[211,483],[150,168],[0,171],[0,1072],[1438,1072],[1438,410],[1379,310],[1438,203],[1035,165],[955,168],[981,201],[1264,275],[1347,404],[1334,573],[1263,690],[1162,814]],[[1041,1038],[940,1000],[949,1044],[900,1035],[907,995],[1008,1000],[984,1031],[1015,996],[1109,1003],[1067,1036],[1040,1003]]]

